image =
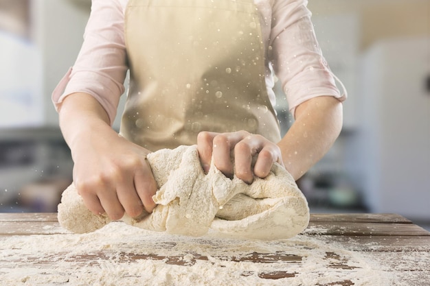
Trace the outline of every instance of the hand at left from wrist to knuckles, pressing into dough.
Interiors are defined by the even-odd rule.
[[[120,219],[140,217],[155,207],[157,183],[148,150],[116,132],[94,130],[73,150],[73,182],[92,213]]]

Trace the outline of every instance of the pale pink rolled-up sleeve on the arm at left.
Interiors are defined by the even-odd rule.
[[[123,9],[117,0],[92,1],[78,58],[52,93],[57,109],[67,95],[88,93],[100,102],[113,123],[128,70]]]

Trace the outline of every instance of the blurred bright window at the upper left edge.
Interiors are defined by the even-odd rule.
[[[43,123],[42,59],[27,0],[0,0],[0,128]]]

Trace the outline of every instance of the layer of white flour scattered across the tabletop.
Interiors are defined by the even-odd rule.
[[[1,237],[0,250],[8,286],[397,285],[388,269],[319,235],[185,237],[112,222],[87,234]]]

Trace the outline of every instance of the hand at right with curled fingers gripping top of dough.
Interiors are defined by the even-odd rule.
[[[265,178],[269,175],[273,163],[284,166],[278,145],[261,135],[246,131],[200,132],[197,136],[197,150],[205,173],[209,171],[214,158],[215,167],[225,176],[232,178],[236,174],[248,184],[253,182],[253,176]],[[257,156],[254,166],[251,164],[253,156]],[[231,157],[234,157],[234,166]]]

